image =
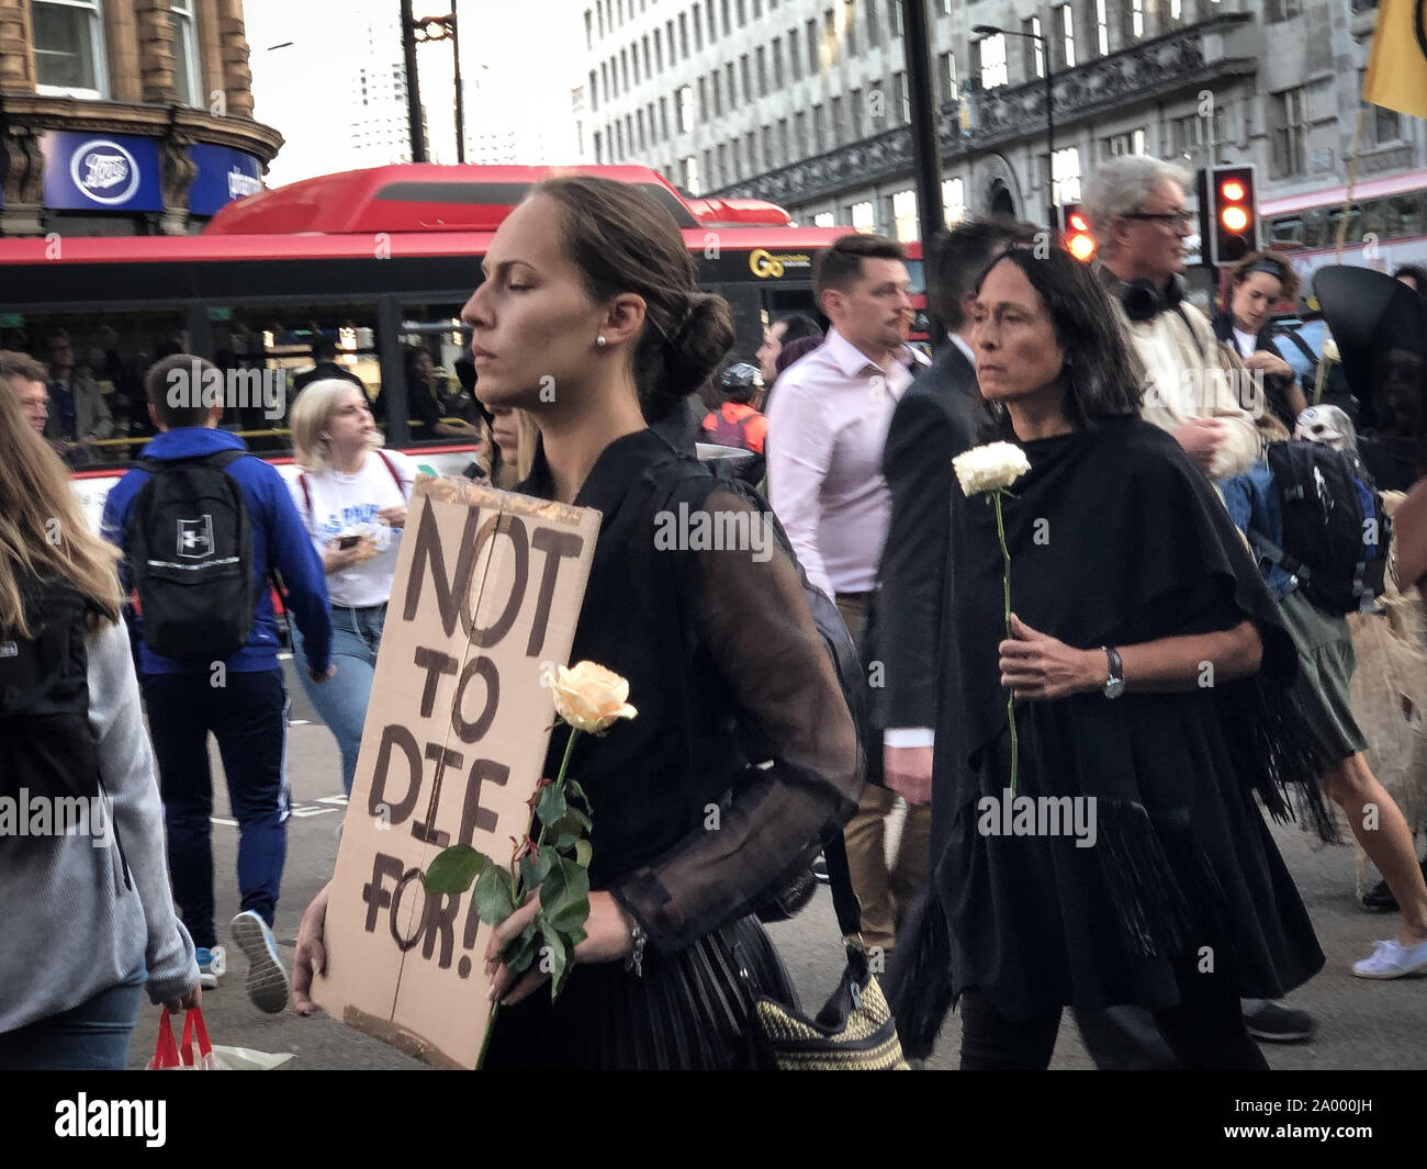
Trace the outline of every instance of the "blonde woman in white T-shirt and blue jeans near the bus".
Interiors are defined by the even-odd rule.
[[[381,441],[365,393],[350,381],[314,381],[293,403],[293,451],[301,468],[293,501],[327,572],[337,665],[324,685],[303,684],[337,737],[348,792],[417,474],[405,455],[381,450]]]

